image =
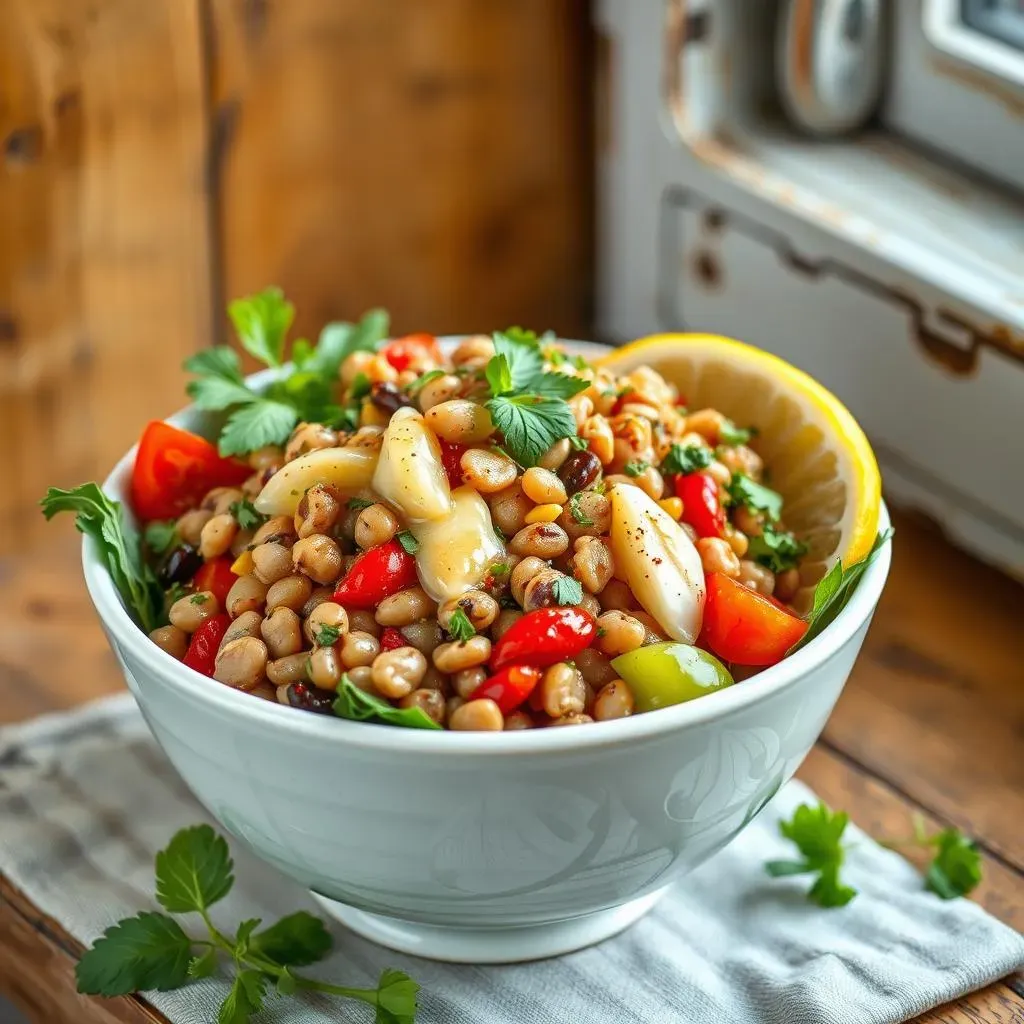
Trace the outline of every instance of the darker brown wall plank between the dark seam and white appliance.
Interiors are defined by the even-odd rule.
[[[372,305],[399,331],[584,330],[583,0],[210,12],[226,296],[280,284],[307,334]]]

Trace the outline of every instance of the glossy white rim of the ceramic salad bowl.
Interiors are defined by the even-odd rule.
[[[439,339],[454,343],[458,337]],[[580,350],[599,351],[608,346],[595,342],[559,339]],[[261,371],[248,380],[266,383],[275,371]],[[195,412],[186,406],[166,421],[181,424]],[[138,444],[120,459],[102,483],[110,497],[121,501],[126,510],[127,483]],[[885,502],[880,508],[880,530],[890,525]],[[305,736],[379,752],[416,754],[486,755],[509,757],[522,754],[570,754],[621,746],[639,740],[665,737],[690,726],[713,722],[768,700],[797,685],[800,680],[824,666],[842,650],[867,622],[879,602],[892,563],[892,543],[884,546],[859,581],[846,607],[821,633],[790,657],[764,669],[751,679],[728,686],[697,700],[660,709],[656,714],[634,715],[610,722],[595,722],[585,729],[527,729],[493,736],[480,732],[452,732],[447,729],[398,729],[370,722],[350,722],[327,715],[311,715],[261,700],[249,693],[212,681],[162,650],[136,626],[121,602],[114,581],[103,563],[99,546],[88,537],[82,542],[82,568],[89,597],[109,636],[123,644],[142,663],[148,663],[161,680],[199,703],[208,703],[226,715],[241,716],[252,725],[285,729],[294,736]]]

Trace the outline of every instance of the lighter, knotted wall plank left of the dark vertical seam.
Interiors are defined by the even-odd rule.
[[[198,0],[8,0],[0,31],[0,552],[48,484],[181,402],[209,335]]]

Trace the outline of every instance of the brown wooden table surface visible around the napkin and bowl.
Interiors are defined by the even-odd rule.
[[[0,560],[0,723],[122,688],[81,581],[74,531]],[[914,812],[978,842],[974,899],[1024,929],[1024,590],[927,526],[896,517],[893,571],[860,659],[799,776],[878,838]],[[153,1022],[144,1000],[74,992],[80,945],[0,876],[0,992],[30,1020]],[[918,1024],[1024,1024],[1024,976],[941,1007]]]

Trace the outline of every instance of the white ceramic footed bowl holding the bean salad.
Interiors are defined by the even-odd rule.
[[[171,422],[201,421],[186,410]],[[112,497],[125,500],[134,456],[105,481]],[[828,629],[746,682],[618,722],[501,735],[348,722],[222,686],[139,631],[88,539],[83,561],[150,728],[231,835],[383,945],[501,963],[613,935],[751,821],[820,734],[890,547]]]

